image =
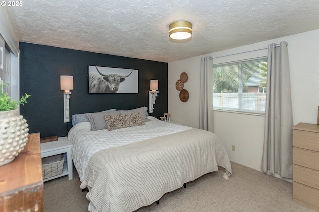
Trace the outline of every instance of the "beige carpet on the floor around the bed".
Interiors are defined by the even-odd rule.
[[[228,181],[221,168],[136,212],[315,212],[292,201],[292,183],[233,162],[232,170]],[[65,176],[44,183],[44,211],[87,212],[85,195],[74,169],[73,180]]]

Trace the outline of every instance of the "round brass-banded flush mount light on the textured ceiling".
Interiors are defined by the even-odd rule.
[[[192,36],[192,24],[188,21],[176,21],[169,25],[169,37],[175,40],[184,40]]]

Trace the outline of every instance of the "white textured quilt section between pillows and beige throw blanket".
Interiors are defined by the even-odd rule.
[[[82,122],[72,127],[68,133],[68,139],[73,144],[72,159],[81,182],[84,180],[89,158],[101,149],[122,146],[191,129],[191,127],[160,121],[152,116],[148,116],[148,119],[152,121],[145,122],[143,126],[113,131],[107,131],[107,129],[91,131],[90,122]]]

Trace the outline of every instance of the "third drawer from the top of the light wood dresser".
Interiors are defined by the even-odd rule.
[[[319,171],[294,164],[293,181],[319,190]]]

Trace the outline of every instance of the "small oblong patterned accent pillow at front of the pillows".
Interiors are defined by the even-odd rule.
[[[124,115],[105,115],[105,122],[108,125],[108,131],[132,126],[145,125],[141,114],[138,112]]]

